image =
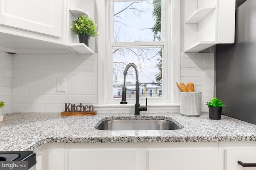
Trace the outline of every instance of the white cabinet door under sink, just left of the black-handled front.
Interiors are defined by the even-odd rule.
[[[148,170],[217,170],[217,148],[150,149]]]

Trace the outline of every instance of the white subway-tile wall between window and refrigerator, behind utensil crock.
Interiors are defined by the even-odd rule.
[[[208,112],[206,103],[214,97],[214,53],[181,53],[180,82],[192,82],[195,91],[202,92],[202,111]]]

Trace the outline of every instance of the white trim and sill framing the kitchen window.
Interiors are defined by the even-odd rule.
[[[104,2],[102,2],[104,1]],[[96,0],[96,8],[98,11],[98,104],[94,105],[98,113],[117,113],[117,112],[129,112],[134,111],[134,102],[128,101],[127,105],[114,104],[108,101],[108,68],[106,63],[108,59],[108,36],[106,33],[108,23],[105,20],[106,16],[110,17],[107,12],[108,0]],[[148,101],[148,112],[173,112],[179,111],[180,106],[180,91],[175,88],[175,82],[180,82],[180,0],[168,0],[168,14],[166,18],[166,27],[172,29],[166,29],[166,37],[168,39],[168,65],[171,67],[165,67],[168,72],[167,88],[168,98],[162,99],[161,102],[155,102],[154,100]],[[173,13],[170,13],[172,8]],[[175,24],[174,24],[175,23]],[[178,24],[177,24],[178,23]],[[171,36],[173,35],[173,36]],[[138,42],[143,43],[143,42]],[[118,44],[119,45],[119,44]],[[171,55],[171,56],[170,56]],[[166,72],[166,70],[163,70]],[[165,90],[165,89],[164,89]],[[164,91],[165,93],[165,91]],[[173,94],[173,95],[172,95]],[[131,99],[132,100],[132,99]],[[159,100],[158,100],[159,101]],[[140,104],[143,105],[143,98],[140,99]]]

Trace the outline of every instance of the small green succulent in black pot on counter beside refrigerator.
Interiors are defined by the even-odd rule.
[[[222,107],[226,106],[222,103],[222,100],[212,98],[206,105],[209,107],[209,118],[213,120],[220,120]]]

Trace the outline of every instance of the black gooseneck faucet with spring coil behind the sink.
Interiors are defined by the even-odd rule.
[[[147,111],[148,98],[146,98],[146,106],[140,106],[140,104],[139,104],[140,88],[139,88],[139,79],[138,79],[138,69],[137,69],[137,67],[134,63],[127,64],[126,68],[124,69],[124,86],[122,88],[122,101],[120,102],[120,104],[127,104],[127,102],[126,102],[126,90],[127,90],[127,88],[125,87],[125,78],[126,78],[126,75],[127,75],[127,70],[130,67],[133,67],[134,70],[135,70],[135,73],[136,73],[136,88],[135,88],[136,102],[135,102],[135,108],[134,108],[134,115],[140,115],[140,111]]]

